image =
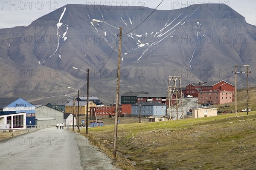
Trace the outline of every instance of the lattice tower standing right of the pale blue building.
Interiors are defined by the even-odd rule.
[[[180,119],[182,116],[184,118],[183,112],[183,99],[182,99],[182,89],[181,89],[181,77],[169,76],[168,83],[168,97],[169,101],[169,116],[170,120],[172,117]]]

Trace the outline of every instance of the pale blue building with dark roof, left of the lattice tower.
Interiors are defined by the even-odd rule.
[[[156,101],[142,101],[131,105],[131,115],[148,117],[152,115],[166,115],[166,105]]]

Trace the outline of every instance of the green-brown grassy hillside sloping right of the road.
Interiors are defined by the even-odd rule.
[[[116,163],[127,170],[190,170],[256,168],[256,88],[250,88],[252,112],[219,114],[206,118],[135,123],[121,118]],[[235,103],[227,111],[235,110]],[[215,106],[220,107],[220,106]],[[246,90],[238,90],[238,109],[246,108]],[[112,120],[113,119],[113,120]],[[105,120],[112,124],[114,118]],[[126,120],[127,119],[127,120]],[[90,141],[109,156],[113,126],[89,129]],[[84,130],[81,134],[85,135]]]

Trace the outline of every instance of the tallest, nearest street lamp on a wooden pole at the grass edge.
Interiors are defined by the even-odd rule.
[[[101,20],[93,19],[93,22],[97,23],[105,23]],[[112,26],[108,23],[105,23],[109,26]],[[115,26],[112,26],[115,29]],[[113,141],[113,156],[116,158],[116,137],[117,137],[117,122],[118,122],[118,114],[119,114],[119,88],[120,88],[120,64],[121,64],[121,47],[122,47],[122,27],[119,28],[119,49],[118,49],[118,62],[117,62],[117,80],[116,80],[116,115],[115,115],[115,127],[114,127],[114,141]]]

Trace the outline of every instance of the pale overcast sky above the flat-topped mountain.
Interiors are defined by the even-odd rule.
[[[66,4],[99,4],[104,6],[144,6],[156,8],[162,0],[0,0],[0,28],[10,28],[30,24]],[[256,0],[164,0],[158,9],[171,10],[195,3],[225,3],[247,23],[256,25]]]

